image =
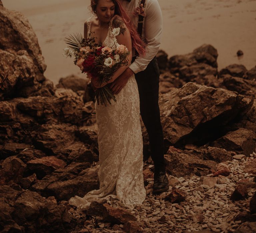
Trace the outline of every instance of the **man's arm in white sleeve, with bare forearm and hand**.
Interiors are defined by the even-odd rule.
[[[147,68],[149,62],[156,56],[161,43],[163,18],[158,1],[153,0],[147,6],[144,21],[144,31],[146,40],[146,54],[139,56],[110,86],[113,94],[118,94],[126,85],[128,79],[140,71]]]

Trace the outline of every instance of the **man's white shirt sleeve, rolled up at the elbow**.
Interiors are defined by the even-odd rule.
[[[163,17],[157,0],[148,1],[144,20],[145,43],[147,44],[144,56],[138,56],[129,68],[136,74],[147,68],[150,61],[156,56],[161,44]]]

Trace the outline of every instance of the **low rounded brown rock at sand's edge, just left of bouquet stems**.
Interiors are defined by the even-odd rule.
[[[85,91],[87,88],[88,80],[79,78],[75,75],[67,76],[66,78],[61,78],[59,84],[56,85],[57,88],[71,89],[74,92]]]

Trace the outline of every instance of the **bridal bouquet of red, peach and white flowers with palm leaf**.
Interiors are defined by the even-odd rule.
[[[114,30],[113,33],[115,33]],[[74,34],[65,38],[68,48],[64,49],[63,55],[74,57],[74,64],[80,68],[82,73],[87,73],[89,79],[97,80],[101,86],[111,80],[116,70],[128,65],[130,52],[124,45],[117,44],[113,48],[109,48],[96,44],[92,33],[89,38],[85,39],[81,34]],[[95,90],[95,99],[98,104],[101,103],[105,106],[107,103],[111,104],[111,99],[116,102],[115,97],[106,86]]]

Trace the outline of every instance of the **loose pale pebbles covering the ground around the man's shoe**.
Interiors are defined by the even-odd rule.
[[[256,157],[256,153],[253,152],[250,157]],[[234,217],[242,211],[249,213],[248,199],[236,201],[235,203],[230,201],[230,196],[239,180],[245,177],[250,181],[254,179],[255,175],[243,171],[245,162],[248,159],[248,157],[244,158],[243,155],[234,155],[232,161],[225,162],[230,168],[231,174],[228,177],[219,176],[217,184],[213,188],[201,183],[203,177],[192,176],[187,179],[169,176],[169,179],[175,178],[180,182],[175,187],[186,192],[186,201],[170,203],[165,200],[166,194],[169,194],[171,189],[167,193],[161,193],[160,195],[153,195],[150,192],[143,204],[131,213],[136,217],[138,224],[142,226],[144,224],[143,232],[145,233],[182,233],[204,229],[219,233],[226,233],[226,229],[229,229],[229,232],[234,232],[242,224],[241,221],[232,221]],[[207,176],[211,177],[212,175],[209,174]],[[256,189],[253,188],[248,189],[248,196],[251,197],[255,191]],[[74,215],[74,210],[69,209],[69,211]],[[162,219],[159,221],[160,218],[163,221]],[[91,224],[84,226],[86,229],[83,229],[85,229],[84,232],[94,233],[123,232],[123,224],[114,226],[118,228],[113,229],[112,224],[105,222],[99,223],[97,228],[93,220]],[[83,229],[81,228],[81,230]],[[72,233],[78,232],[73,231]]]

